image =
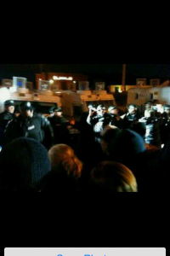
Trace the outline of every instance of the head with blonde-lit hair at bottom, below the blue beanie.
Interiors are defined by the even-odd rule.
[[[91,172],[94,189],[101,192],[138,192],[136,178],[126,166],[120,163],[105,161]]]

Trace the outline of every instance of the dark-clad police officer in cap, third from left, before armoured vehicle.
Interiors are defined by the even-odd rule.
[[[62,109],[61,108],[54,108],[53,109],[54,116],[49,117],[48,121],[50,122],[51,126],[53,127],[54,131],[54,144],[70,144],[70,132],[67,128],[66,119],[63,117]]]

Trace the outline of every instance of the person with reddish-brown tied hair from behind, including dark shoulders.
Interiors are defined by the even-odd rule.
[[[52,171],[42,178],[39,190],[59,192],[62,195],[79,191],[79,179],[82,176],[82,161],[77,158],[72,148],[65,144],[50,148],[48,156]]]

